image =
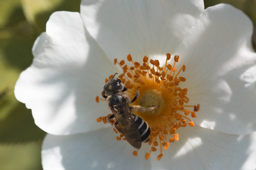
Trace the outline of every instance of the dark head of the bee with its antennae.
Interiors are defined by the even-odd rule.
[[[114,92],[122,91],[123,87],[125,87],[119,78],[114,78],[115,74],[113,75],[112,79],[110,79],[104,86],[104,92],[107,96],[112,95]]]

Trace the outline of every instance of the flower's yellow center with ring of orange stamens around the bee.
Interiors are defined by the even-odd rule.
[[[130,105],[140,105],[144,108],[159,106],[148,112],[133,112],[133,114],[146,121],[151,129],[147,142],[151,149],[146,152],[145,159],[150,158],[151,152],[156,152],[159,149],[160,154],[157,159],[160,160],[163,156],[163,149],[167,150],[170,143],[179,141],[177,130],[187,126],[187,122],[189,126],[194,126],[193,121],[187,117],[188,114],[191,114],[191,117],[196,117],[195,112],[200,109],[200,104],[187,105],[189,102],[187,97],[188,88],[179,87],[179,83],[186,80],[183,76],[179,76],[181,71],[185,71],[185,65],[178,71],[175,65],[176,62],[179,62],[179,56],[174,57],[173,65],[168,63],[171,54],[167,53],[166,56],[166,63],[163,67],[160,66],[158,60],[150,59],[148,61],[146,56],[141,64],[134,62],[129,54],[127,60],[132,63],[132,66],[127,65],[124,60],[118,62],[117,59],[114,59],[114,64],[118,64],[123,70],[118,78],[128,88],[125,93],[130,96],[130,99],[133,99],[137,89],[139,90],[138,99]],[[112,76],[110,75],[109,79]],[[105,82],[108,82],[109,79],[105,79]],[[98,96],[96,101],[99,101]],[[103,120],[106,123],[106,118],[109,116],[99,117],[97,121]],[[114,131],[117,133],[117,130],[114,129]],[[125,140],[121,134],[117,137],[117,140],[119,141],[122,138]],[[134,151],[133,155],[137,156],[137,152],[138,150]]]

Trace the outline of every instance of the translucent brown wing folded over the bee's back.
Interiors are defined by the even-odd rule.
[[[131,114],[128,101],[123,101],[122,111],[119,111],[119,113],[115,111],[113,107],[110,107],[110,109],[127,142],[137,149],[141,148],[141,133],[139,133],[133,114]]]

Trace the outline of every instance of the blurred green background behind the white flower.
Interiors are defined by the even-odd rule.
[[[52,12],[79,11],[80,1],[0,0],[0,170],[42,169],[40,150],[46,133],[13,90],[21,71],[31,65],[32,45]],[[256,24],[256,0],[205,0],[205,8],[218,3],[240,8]],[[255,32],[253,41],[255,49]]]

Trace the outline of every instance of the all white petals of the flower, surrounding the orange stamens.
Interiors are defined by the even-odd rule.
[[[87,0],[81,14],[55,12],[35,41],[32,65],[15,86],[46,131],[44,169],[255,169],[256,54],[253,25],[229,5],[204,10],[203,1]],[[189,103],[200,103],[194,127],[177,130],[179,141],[144,159],[113,127],[96,122],[111,113],[95,97],[121,69],[113,59],[144,56],[165,62],[166,53],[186,66]],[[150,149],[150,148],[149,148]]]

